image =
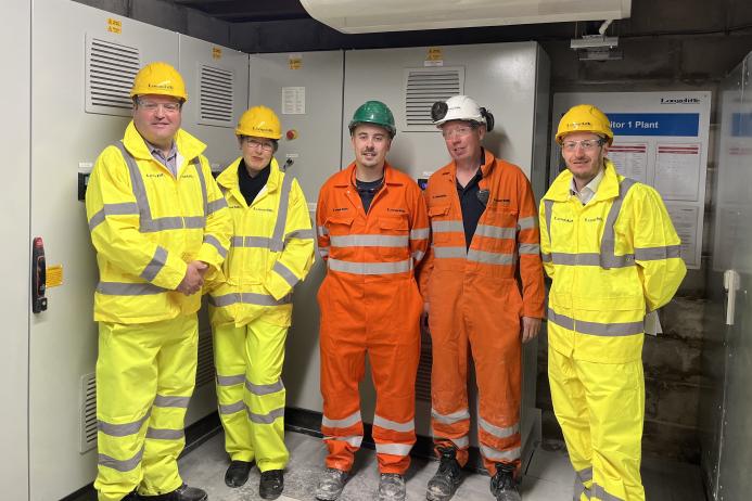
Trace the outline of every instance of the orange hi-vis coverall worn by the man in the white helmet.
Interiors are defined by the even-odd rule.
[[[481,191],[486,208],[468,248],[453,162],[425,190],[431,248],[420,269],[433,345],[432,425],[436,447],[468,461],[468,344],[480,397],[479,438],[486,470],[519,464],[521,317],[543,318],[538,221],[530,182],[515,165],[485,150]],[[522,296],[515,278],[519,267]]]

